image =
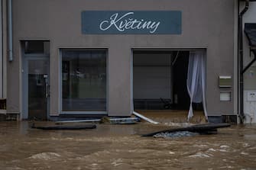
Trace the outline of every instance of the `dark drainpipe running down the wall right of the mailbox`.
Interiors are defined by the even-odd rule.
[[[239,4],[238,4],[239,5]],[[239,47],[239,73],[240,73],[240,123],[244,123],[245,114],[244,114],[244,74],[243,74],[243,15],[249,8],[249,0],[245,1],[245,8],[238,15],[238,47]]]

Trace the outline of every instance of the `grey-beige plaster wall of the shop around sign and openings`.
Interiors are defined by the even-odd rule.
[[[179,10],[181,35],[85,35],[81,11]],[[21,112],[20,40],[50,40],[50,115],[58,115],[60,47],[109,49],[109,115],[131,114],[131,48],[207,48],[209,115],[233,114],[219,101],[219,75],[233,76],[233,0],[14,0],[14,61],[8,63],[8,112]],[[232,91],[233,90],[227,89]],[[232,98],[233,99],[233,98]]]

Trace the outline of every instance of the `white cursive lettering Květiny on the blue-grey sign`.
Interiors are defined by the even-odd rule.
[[[154,33],[160,25],[160,22],[156,21],[144,21],[143,19],[137,20],[130,18],[132,14],[134,14],[134,12],[128,12],[120,17],[118,13],[112,14],[109,20],[104,20],[99,24],[99,28],[101,30],[109,30],[110,27],[115,27],[121,32],[129,29],[148,29],[150,33]]]

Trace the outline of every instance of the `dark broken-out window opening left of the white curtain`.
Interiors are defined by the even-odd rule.
[[[134,111],[160,122],[167,117],[186,121],[189,60],[190,50],[133,50]],[[193,103],[193,109],[203,117],[202,103]]]

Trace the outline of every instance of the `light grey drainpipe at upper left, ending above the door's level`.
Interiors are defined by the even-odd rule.
[[[12,54],[12,2],[11,0],[8,0],[7,2],[7,8],[8,8],[8,58],[9,62],[13,60],[13,54]]]

